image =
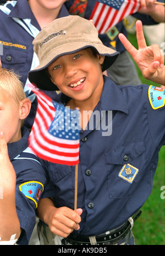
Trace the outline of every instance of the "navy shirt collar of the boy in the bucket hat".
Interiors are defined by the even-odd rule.
[[[104,79],[104,86],[100,101],[98,105],[100,105],[100,109],[103,111],[108,110],[116,110],[122,111],[128,114],[128,105],[123,92],[120,89],[119,85],[116,85],[111,79],[107,76],[103,76]],[[65,105],[70,100],[68,96],[65,96],[61,93],[59,102]],[[97,105],[97,106],[98,106]]]

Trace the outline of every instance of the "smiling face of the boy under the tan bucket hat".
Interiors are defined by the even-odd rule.
[[[63,55],[48,66],[51,80],[65,95],[76,101],[100,98],[103,56],[94,56],[90,48]]]

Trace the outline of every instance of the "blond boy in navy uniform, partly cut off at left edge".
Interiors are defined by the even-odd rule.
[[[46,184],[23,126],[30,107],[18,76],[0,68],[0,244],[28,244]]]

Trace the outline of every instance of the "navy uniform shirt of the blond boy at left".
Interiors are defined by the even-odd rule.
[[[29,153],[27,148],[29,130],[23,127],[21,132],[22,138],[18,142],[8,144],[8,153],[17,177],[15,205],[20,227],[23,229],[18,244],[28,244],[36,222],[35,210],[38,201],[36,189],[41,187],[40,193],[37,194],[37,197],[40,197],[47,179],[41,165],[42,160],[39,161],[34,154]],[[33,195],[34,192],[35,195]]]

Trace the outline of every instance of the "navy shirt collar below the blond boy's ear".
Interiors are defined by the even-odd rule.
[[[21,128],[22,138],[18,142],[8,143],[8,154],[10,161],[23,152],[28,147],[29,130],[26,127]]]

